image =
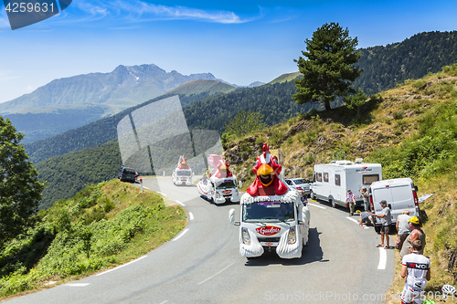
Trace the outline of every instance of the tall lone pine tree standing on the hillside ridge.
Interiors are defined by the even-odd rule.
[[[362,73],[354,67],[360,58],[357,38],[349,37],[347,28],[331,23],[319,27],[305,44],[304,58],[294,60],[303,78],[294,80],[298,92],[292,99],[298,104],[321,101],[325,110],[331,110],[330,101],[354,93],[350,86]]]

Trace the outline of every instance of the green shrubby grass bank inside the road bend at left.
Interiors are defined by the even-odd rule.
[[[186,225],[186,212],[178,205],[117,180],[92,184],[38,217],[34,229],[2,248],[0,299],[141,257]]]

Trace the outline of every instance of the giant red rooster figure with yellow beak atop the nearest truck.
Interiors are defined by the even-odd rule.
[[[250,196],[285,194],[289,189],[279,178],[282,166],[278,163],[278,158],[271,155],[270,147],[267,143],[263,144],[262,151],[252,168],[252,171],[256,174],[256,179],[248,188],[247,193]]]

